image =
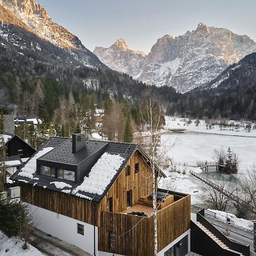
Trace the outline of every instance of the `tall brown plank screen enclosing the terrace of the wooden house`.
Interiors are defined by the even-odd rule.
[[[176,197],[157,213],[158,251],[190,228],[190,196]],[[127,256],[154,255],[154,218],[122,213],[101,213],[99,250]]]

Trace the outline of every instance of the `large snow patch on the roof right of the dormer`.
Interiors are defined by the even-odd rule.
[[[97,163],[94,164],[88,177],[84,177],[84,181],[72,192],[89,192],[102,195],[105,188],[109,185],[114,175],[117,173],[121,164],[125,159],[119,155],[111,155],[105,152]]]

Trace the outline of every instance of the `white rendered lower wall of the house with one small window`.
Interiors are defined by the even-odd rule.
[[[36,216],[36,228],[80,247],[94,255],[94,226],[29,204]],[[84,236],[77,233],[77,223],[84,225]],[[98,255],[98,228],[95,227],[95,250]]]

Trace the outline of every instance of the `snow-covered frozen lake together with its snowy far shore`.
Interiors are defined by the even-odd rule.
[[[175,164],[196,166],[197,162],[214,161],[214,150],[226,151],[228,147],[238,156],[239,171],[246,172],[247,169],[256,164],[256,130],[247,133],[246,131],[220,130],[218,126],[207,130],[205,122],[200,121],[196,126],[194,120],[189,126],[183,126],[179,118],[166,117],[166,129],[185,128],[184,134],[163,134],[161,137],[162,147],[160,150],[168,150],[176,141],[175,146],[167,151]],[[177,125],[180,123],[180,126]],[[195,133],[195,131],[197,133]],[[212,133],[212,134],[210,134]],[[234,136],[236,135],[236,136]],[[240,135],[240,136],[237,136]],[[250,137],[249,137],[250,136]],[[254,136],[251,138],[251,136]]]

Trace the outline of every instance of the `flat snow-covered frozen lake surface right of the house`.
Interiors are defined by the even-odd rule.
[[[170,150],[168,148],[175,143]],[[238,172],[245,172],[256,164],[256,138],[220,134],[187,132],[184,134],[163,134],[160,150],[168,150],[175,164],[196,166],[197,162],[214,161],[214,150],[226,150],[228,147],[238,156]]]

